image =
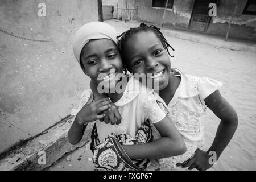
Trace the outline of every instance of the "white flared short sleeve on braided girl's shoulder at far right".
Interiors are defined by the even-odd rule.
[[[216,90],[220,89],[222,85],[223,84],[220,81],[207,77],[200,77],[197,83],[198,90],[200,92],[200,100],[204,103],[205,98]]]

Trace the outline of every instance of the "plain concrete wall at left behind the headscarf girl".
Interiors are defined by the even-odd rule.
[[[46,17],[38,4],[46,3]],[[51,127],[77,107],[89,78],[72,36],[98,20],[97,1],[0,0],[0,154]]]

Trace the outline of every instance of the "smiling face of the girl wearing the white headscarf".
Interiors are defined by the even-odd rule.
[[[115,75],[122,73],[122,59],[115,43],[109,39],[90,40],[82,49],[81,62],[84,72],[96,84],[104,81],[112,89],[117,81]]]

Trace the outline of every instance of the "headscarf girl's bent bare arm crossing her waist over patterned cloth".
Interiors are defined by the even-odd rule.
[[[162,136],[146,144],[123,146],[131,159],[160,159],[181,155],[186,151],[185,143],[168,117],[155,124]]]

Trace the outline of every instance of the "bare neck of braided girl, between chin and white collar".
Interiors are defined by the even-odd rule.
[[[174,94],[179,85],[180,77],[175,76],[173,73],[170,73],[168,85],[163,90],[159,90],[159,96],[163,98],[164,102],[166,102],[166,105],[168,105],[174,97]]]

